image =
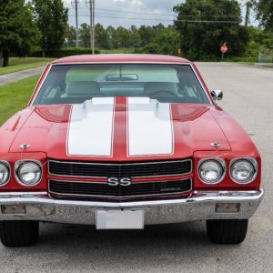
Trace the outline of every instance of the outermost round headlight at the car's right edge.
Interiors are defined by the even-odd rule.
[[[238,159],[231,164],[230,175],[238,184],[248,184],[256,176],[256,168],[248,159]]]

